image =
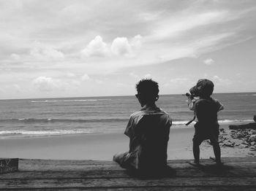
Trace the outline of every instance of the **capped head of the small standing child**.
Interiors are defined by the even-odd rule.
[[[209,79],[199,79],[197,85],[189,91],[192,95],[207,98],[214,92],[214,83]]]

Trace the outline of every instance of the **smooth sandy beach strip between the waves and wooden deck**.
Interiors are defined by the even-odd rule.
[[[228,131],[228,124],[221,125]],[[192,159],[194,128],[171,128],[168,159]],[[0,157],[70,160],[112,160],[116,152],[129,149],[123,133],[94,133],[70,136],[0,139]],[[249,157],[248,148],[222,147],[222,157]],[[200,157],[214,156],[207,141],[200,146]]]

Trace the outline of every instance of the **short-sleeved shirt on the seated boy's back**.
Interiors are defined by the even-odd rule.
[[[154,109],[143,108],[133,113],[124,131],[124,134],[130,139],[130,165],[138,169],[146,160],[166,163],[167,141],[171,125],[172,121],[169,115],[157,107]],[[146,160],[143,160],[145,157],[147,157]]]

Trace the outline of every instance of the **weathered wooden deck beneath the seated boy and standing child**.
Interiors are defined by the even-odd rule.
[[[176,176],[143,179],[111,161],[20,159],[18,172],[0,175],[0,190],[256,190],[256,157],[223,161],[169,160]]]

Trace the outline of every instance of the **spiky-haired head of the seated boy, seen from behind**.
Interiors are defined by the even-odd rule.
[[[154,104],[159,98],[158,83],[154,82],[152,79],[141,79],[140,82],[136,84],[136,90],[138,94],[136,97],[140,101],[140,105]]]

